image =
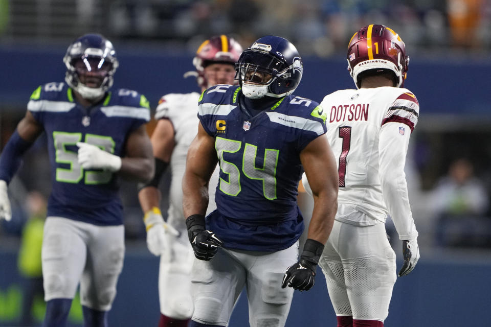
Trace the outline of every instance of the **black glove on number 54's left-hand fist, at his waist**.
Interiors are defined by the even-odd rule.
[[[199,260],[211,260],[218,248],[224,245],[214,232],[205,229],[205,216],[203,215],[189,216],[186,219],[186,227],[194,256]]]

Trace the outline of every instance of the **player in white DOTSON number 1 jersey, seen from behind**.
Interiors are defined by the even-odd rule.
[[[396,256],[384,224],[388,215],[403,245],[398,275],[411,272],[419,259],[404,173],[419,104],[402,88],[409,57],[392,29],[360,29],[349,42],[347,59],[356,89],[333,92],[321,103],[338,161],[339,204],[319,265],[338,327],[379,327],[396,280]],[[308,192],[305,174],[302,179]]]

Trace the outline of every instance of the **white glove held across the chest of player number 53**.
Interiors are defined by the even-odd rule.
[[[84,142],[77,142],[77,146],[78,163],[83,169],[103,169],[111,172],[117,172],[121,169],[119,156]]]

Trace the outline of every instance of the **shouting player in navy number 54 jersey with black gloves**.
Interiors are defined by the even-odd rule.
[[[291,42],[261,37],[241,54],[235,70],[239,86],[216,85],[199,99],[198,133],[183,178],[196,257],[191,326],[227,325],[244,287],[251,326],[284,326],[294,289],[314,285],[337,208],[336,161],[324,135],[323,108],[292,95],[303,66]],[[220,178],[210,185],[217,209],[205,218],[217,162]],[[315,205],[298,259],[303,171],[315,180]]]

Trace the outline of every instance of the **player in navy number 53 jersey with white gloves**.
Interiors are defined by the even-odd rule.
[[[80,283],[84,325],[106,326],[123,267],[119,176],[146,182],[154,161],[145,130],[148,101],[110,90],[118,59],[99,34],[76,39],[63,58],[65,82],[39,86],[0,157],[0,216],[10,219],[7,185],[45,132],[53,189],[42,244],[43,326],[66,325]]]

